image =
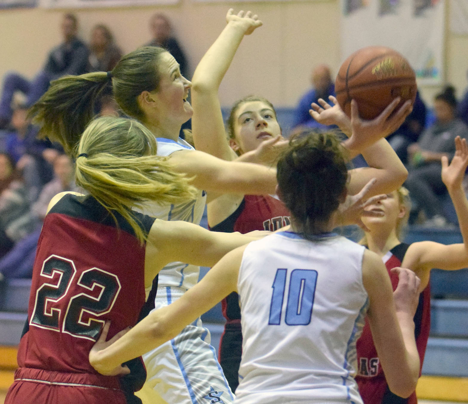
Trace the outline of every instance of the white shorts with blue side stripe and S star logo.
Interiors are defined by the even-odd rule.
[[[177,300],[184,292],[174,286],[158,287],[156,309]],[[231,404],[234,394],[210,342],[210,331],[198,318],[176,338],[144,354],[146,385],[168,404]]]

